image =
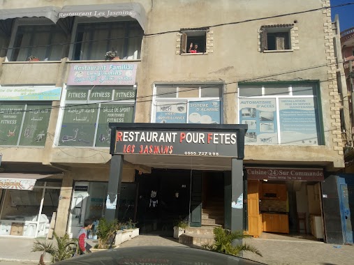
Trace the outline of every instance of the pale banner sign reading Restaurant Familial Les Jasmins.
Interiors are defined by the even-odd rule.
[[[73,63],[68,85],[134,85],[136,63]]]

